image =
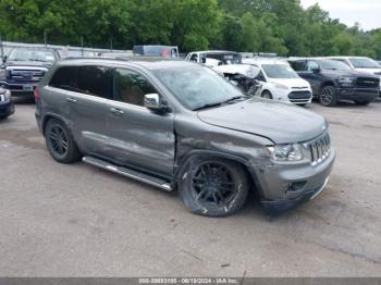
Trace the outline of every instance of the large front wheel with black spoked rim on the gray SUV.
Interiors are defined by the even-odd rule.
[[[179,179],[179,191],[185,206],[196,214],[228,216],[237,212],[248,195],[244,168],[219,159],[192,159]]]

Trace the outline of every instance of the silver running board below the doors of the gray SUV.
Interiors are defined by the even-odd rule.
[[[162,179],[157,178],[157,177],[151,177],[147,174],[144,174],[144,173],[140,173],[140,172],[137,172],[134,170],[130,170],[130,169],[122,168],[122,166],[116,166],[114,164],[111,164],[111,163],[106,162],[106,161],[100,160],[100,159],[96,159],[93,157],[84,157],[82,159],[82,161],[85,163],[91,164],[94,166],[98,166],[98,168],[101,168],[103,170],[108,170],[108,171],[111,171],[113,173],[118,173],[120,175],[133,178],[135,181],[144,182],[144,183],[152,185],[155,187],[159,187],[159,188],[164,189],[167,191],[173,190],[171,185],[165,181],[162,181]]]

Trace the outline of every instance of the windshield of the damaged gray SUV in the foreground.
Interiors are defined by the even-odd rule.
[[[190,110],[245,96],[226,79],[204,66],[153,71],[168,89]]]

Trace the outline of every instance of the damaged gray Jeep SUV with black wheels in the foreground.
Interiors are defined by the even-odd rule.
[[[290,209],[324,189],[335,158],[322,116],[249,98],[192,62],[64,60],[35,97],[54,160],[179,189],[202,215],[235,213],[250,188],[265,209]]]

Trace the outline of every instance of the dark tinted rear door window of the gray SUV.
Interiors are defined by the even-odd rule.
[[[77,91],[111,99],[112,70],[105,66],[81,66],[77,76]]]

